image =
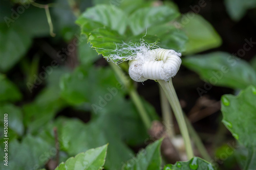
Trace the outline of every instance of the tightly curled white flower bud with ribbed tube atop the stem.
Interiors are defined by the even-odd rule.
[[[180,68],[180,56],[181,54],[174,50],[163,48],[148,51],[145,56],[139,56],[129,62],[129,75],[136,82],[147,79],[169,81]]]

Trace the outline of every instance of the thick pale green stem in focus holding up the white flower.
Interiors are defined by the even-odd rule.
[[[158,80],[158,82],[163,88],[165,95],[170,103],[170,106],[172,106],[172,109],[174,111],[174,115],[177,119],[180,132],[185,143],[187,159],[191,159],[194,157],[194,153],[193,153],[191,141],[189,138],[185,118],[183,116],[183,112],[182,112],[176,91],[174,89],[172,79],[170,79],[168,82],[165,82],[164,80]]]

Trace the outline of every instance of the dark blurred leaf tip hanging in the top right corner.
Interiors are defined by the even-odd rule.
[[[224,2],[229,16],[236,21],[240,20],[248,9],[256,7],[254,0],[225,0]]]

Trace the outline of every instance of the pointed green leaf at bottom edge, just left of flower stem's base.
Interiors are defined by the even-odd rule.
[[[141,150],[136,158],[132,158],[122,167],[125,170],[157,170],[161,169],[161,147],[162,139],[148,145],[145,150]]]

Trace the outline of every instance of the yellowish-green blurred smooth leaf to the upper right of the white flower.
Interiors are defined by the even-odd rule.
[[[194,13],[183,15],[183,17],[188,20],[188,23],[183,23],[182,17],[180,26],[177,26],[179,29],[182,29],[188,37],[184,54],[199,53],[220,46],[222,43],[221,37],[210,23],[198,14],[194,14],[194,17],[188,19],[187,16],[191,14]]]

